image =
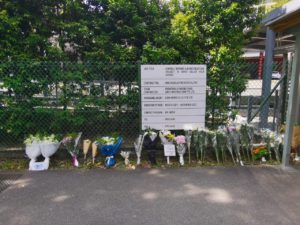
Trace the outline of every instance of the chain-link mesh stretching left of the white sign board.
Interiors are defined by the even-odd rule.
[[[139,133],[136,63],[2,62],[1,145],[28,134],[112,132],[126,143]]]

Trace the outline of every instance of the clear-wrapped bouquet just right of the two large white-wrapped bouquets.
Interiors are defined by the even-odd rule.
[[[65,146],[65,148],[67,149],[67,151],[70,153],[70,155],[72,157],[72,165],[75,167],[79,166],[77,157],[79,154],[78,143],[79,143],[81,135],[82,135],[82,132],[80,132],[78,134],[77,133],[69,133],[62,140],[62,144]]]

